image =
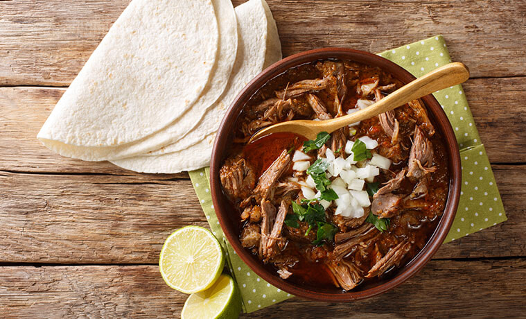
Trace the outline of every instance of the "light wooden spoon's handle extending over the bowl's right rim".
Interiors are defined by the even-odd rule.
[[[439,89],[464,83],[468,78],[469,70],[463,63],[449,63],[413,80],[363,110],[343,117],[320,121],[319,124],[324,127],[326,132],[331,133],[351,123],[370,119],[378,114],[394,110],[398,106],[436,92]]]

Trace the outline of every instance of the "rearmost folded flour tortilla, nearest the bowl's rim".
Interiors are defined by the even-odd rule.
[[[274,28],[275,34],[272,37],[262,36],[268,28],[269,19],[265,13],[262,0],[250,0],[236,7],[239,33],[238,56],[229,87],[222,96],[222,101],[225,101],[227,96],[233,99],[254,76],[261,72],[264,65],[270,65],[281,59],[281,44],[279,43],[277,28]],[[272,15],[270,10],[268,14]],[[274,19],[272,19],[272,24],[275,27]],[[269,43],[268,40],[272,43]],[[273,48],[275,52],[267,53],[265,48]],[[273,60],[265,60],[265,58]],[[230,101],[228,104],[217,103],[207,111],[198,128],[191,131],[189,135],[199,134],[209,128],[212,128],[211,132],[204,135],[204,138],[201,135],[198,142],[191,147],[161,155],[143,155],[111,162],[124,169],[143,173],[179,173],[209,166],[218,123],[225,115],[229,103]],[[206,126],[203,124],[205,121],[208,121]]]

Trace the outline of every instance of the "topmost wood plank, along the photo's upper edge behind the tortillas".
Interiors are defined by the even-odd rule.
[[[379,52],[441,33],[472,76],[526,75],[524,1],[268,2],[284,55],[323,46]],[[0,85],[69,85],[128,3],[0,1]]]

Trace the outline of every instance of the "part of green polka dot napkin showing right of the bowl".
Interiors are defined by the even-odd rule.
[[[441,35],[380,55],[417,77],[451,62]],[[502,223],[507,218],[462,85],[442,89],[433,95],[453,126],[462,160],[462,193],[457,216],[446,237],[448,242]]]

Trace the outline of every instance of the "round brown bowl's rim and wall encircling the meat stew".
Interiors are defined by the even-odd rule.
[[[265,279],[270,284],[277,286],[283,291],[296,295],[298,297],[307,298],[311,300],[323,300],[331,302],[345,302],[349,300],[359,300],[369,298],[380,293],[384,293],[389,289],[392,289],[399,284],[405,282],[411,276],[415,275],[437,252],[441,243],[446,238],[448,231],[455,218],[457,212],[457,205],[460,196],[460,184],[462,180],[461,166],[460,166],[460,155],[459,148],[457,146],[457,140],[453,133],[453,128],[444,113],[444,110],[440,107],[439,103],[432,95],[424,96],[423,102],[426,104],[430,117],[432,117],[435,123],[435,128],[439,130],[442,137],[444,137],[446,150],[448,153],[448,169],[450,173],[449,181],[449,193],[448,200],[446,202],[446,208],[444,214],[441,216],[441,220],[430,237],[426,246],[419,252],[419,254],[410,261],[404,267],[396,270],[396,272],[387,279],[378,279],[376,282],[366,282],[353,289],[352,291],[344,292],[340,288],[316,288],[313,286],[301,286],[292,282],[283,280],[276,273],[271,273],[266,269],[261,261],[257,259],[250,252],[245,250],[241,245],[238,238],[238,212],[232,207],[231,202],[227,199],[225,194],[222,192],[221,182],[219,178],[219,170],[222,166],[225,157],[227,156],[227,150],[231,146],[231,132],[234,131],[234,125],[236,119],[240,114],[243,105],[249,101],[252,94],[256,93],[265,83],[270,79],[282,74],[287,69],[297,67],[300,64],[313,62],[315,60],[323,59],[342,59],[351,60],[355,62],[362,62],[372,66],[380,67],[389,74],[392,74],[402,83],[406,84],[414,80],[409,72],[399,67],[393,62],[381,58],[378,55],[367,53],[364,51],[357,51],[353,49],[339,49],[339,48],[327,48],[327,49],[315,49],[292,55],[285,58],[277,63],[272,64],[270,67],[261,72],[252,82],[250,82],[245,89],[237,96],[234,103],[230,105],[230,108],[223,119],[221,126],[216,137],[216,141],[213,145],[212,159],[210,164],[210,184],[211,194],[213,199],[213,205],[216,207],[216,213],[220,225],[222,227],[227,240],[232,245],[234,250],[245,263],[254,270],[254,273],[258,274],[261,278]]]

